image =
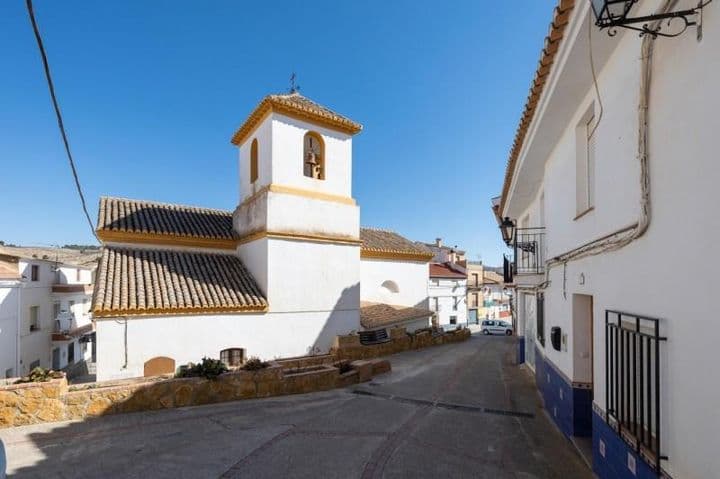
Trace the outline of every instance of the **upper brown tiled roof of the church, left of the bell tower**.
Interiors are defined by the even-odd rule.
[[[120,231],[205,239],[234,239],[232,212],[103,196],[98,233]]]

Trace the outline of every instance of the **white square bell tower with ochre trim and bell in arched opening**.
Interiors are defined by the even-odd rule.
[[[329,333],[359,329],[352,137],[361,129],[293,92],[265,97],[232,138],[240,169],[238,254],[270,313],[319,313]]]

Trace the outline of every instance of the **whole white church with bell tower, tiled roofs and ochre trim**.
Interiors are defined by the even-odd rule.
[[[234,211],[102,197],[97,379],[148,375],[157,358],[318,354],[339,334],[428,326],[433,253],[360,227],[361,129],[297,92],[269,95],[232,136]]]

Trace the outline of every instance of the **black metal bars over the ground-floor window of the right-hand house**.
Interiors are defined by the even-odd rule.
[[[607,422],[660,472],[660,320],[605,311]]]

